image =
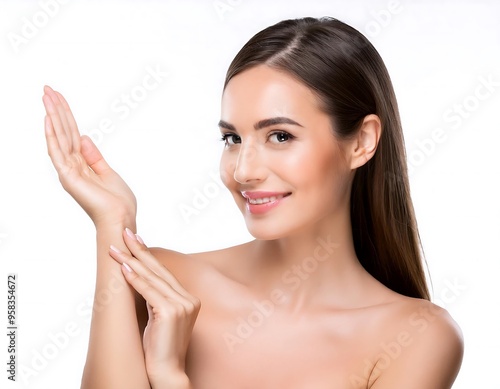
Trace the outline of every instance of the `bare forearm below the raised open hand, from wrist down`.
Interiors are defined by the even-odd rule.
[[[108,253],[111,244],[127,250],[122,238],[125,224],[135,228],[129,222],[97,229],[97,279],[82,389],[150,388],[135,291]]]

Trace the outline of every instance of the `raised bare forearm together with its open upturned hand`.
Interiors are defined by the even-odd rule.
[[[90,138],[81,137],[64,98],[45,87],[45,134],[64,189],[87,212],[97,232],[97,279],[83,389],[150,388],[136,313],[136,299],[109,256],[113,244],[127,251],[122,232],[135,232],[136,202]]]

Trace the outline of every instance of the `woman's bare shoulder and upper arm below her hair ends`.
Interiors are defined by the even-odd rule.
[[[370,388],[451,388],[464,351],[458,324],[427,300],[400,296],[391,305]]]

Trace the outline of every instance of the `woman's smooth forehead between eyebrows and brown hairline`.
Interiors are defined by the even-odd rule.
[[[285,116],[326,116],[309,87],[284,71],[258,65],[236,75],[222,95],[222,119],[228,122],[257,121]]]

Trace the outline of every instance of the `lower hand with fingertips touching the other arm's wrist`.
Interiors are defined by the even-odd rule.
[[[126,229],[123,237],[131,255],[114,246],[109,253],[122,264],[127,282],[146,300],[149,320],[143,348],[150,383],[153,388],[189,387],[185,360],[200,300],[158,262],[138,235]]]

